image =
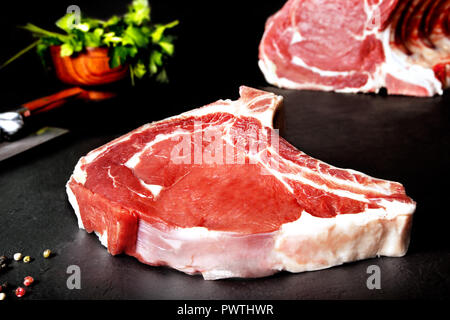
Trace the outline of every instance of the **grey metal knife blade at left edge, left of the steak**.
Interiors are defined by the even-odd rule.
[[[68,132],[69,130],[63,128],[44,127],[19,140],[2,142],[0,143],[0,161],[11,158],[16,154],[29,150]]]

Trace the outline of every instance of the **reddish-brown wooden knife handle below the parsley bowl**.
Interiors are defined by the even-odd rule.
[[[79,87],[65,89],[52,95],[24,103],[22,104],[19,111],[24,117],[28,117],[34,113],[44,112],[57,108],[66,103],[67,99],[79,96],[84,92],[85,90]]]

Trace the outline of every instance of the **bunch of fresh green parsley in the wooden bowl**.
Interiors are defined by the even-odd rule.
[[[106,21],[81,17],[76,23],[74,13],[68,13],[56,22],[65,33],[50,32],[31,23],[22,28],[31,32],[38,40],[8,60],[6,66],[25,52],[36,47],[45,63],[50,46],[60,45],[61,56],[72,56],[86,48],[107,47],[110,67],[128,65],[131,81],[145,75],[159,82],[167,82],[166,60],[174,53],[174,36],[166,34],[178,21],[154,24],[150,19],[147,0],[133,0],[128,12],[122,17],[112,16]]]

